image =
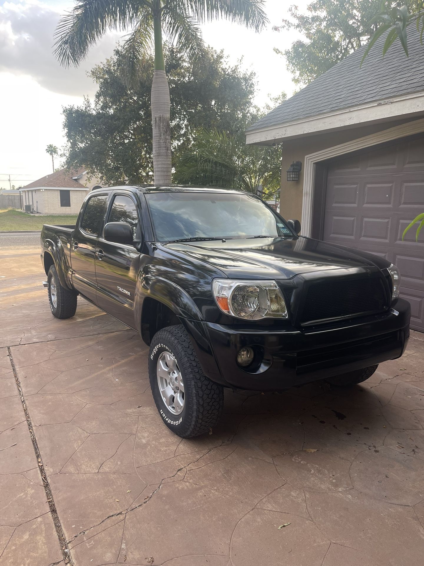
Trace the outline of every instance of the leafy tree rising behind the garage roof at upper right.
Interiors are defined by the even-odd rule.
[[[406,4],[414,9],[421,0],[396,0],[392,7]],[[284,52],[293,82],[311,83],[339,61],[369,41],[377,29],[373,20],[381,10],[381,0],[314,0],[303,14],[297,6],[289,8],[290,20],[274,27],[276,31],[295,30],[304,39],[293,42]]]

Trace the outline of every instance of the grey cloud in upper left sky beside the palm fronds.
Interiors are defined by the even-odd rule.
[[[0,72],[29,75],[42,87],[60,94],[92,95],[96,85],[86,76],[113,53],[119,35],[108,33],[78,68],[63,68],[53,56],[54,31],[61,13],[37,0],[0,6]]]

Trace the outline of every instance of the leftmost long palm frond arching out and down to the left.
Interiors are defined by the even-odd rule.
[[[61,65],[77,66],[107,31],[131,27],[143,5],[144,0],[79,0],[56,28],[53,54]]]

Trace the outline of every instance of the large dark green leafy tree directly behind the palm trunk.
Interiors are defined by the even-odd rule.
[[[122,49],[93,69],[98,85],[94,101],[63,110],[68,169],[86,168],[102,185],[152,182],[152,118],[150,85],[153,57],[144,58],[137,87],[128,87],[119,69]],[[256,76],[239,65],[228,65],[223,52],[206,49],[202,60],[190,61],[174,46],[166,46],[165,62],[172,97],[173,164],[200,128],[235,132],[255,120]],[[240,129],[240,128],[239,128]]]

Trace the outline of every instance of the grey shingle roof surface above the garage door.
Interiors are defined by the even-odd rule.
[[[424,46],[416,24],[408,27],[409,57],[397,39],[382,56],[386,35],[370,50],[360,67],[366,46],[337,63],[301,91],[248,128],[248,132],[296,119],[324,114],[393,96],[424,90]]]

